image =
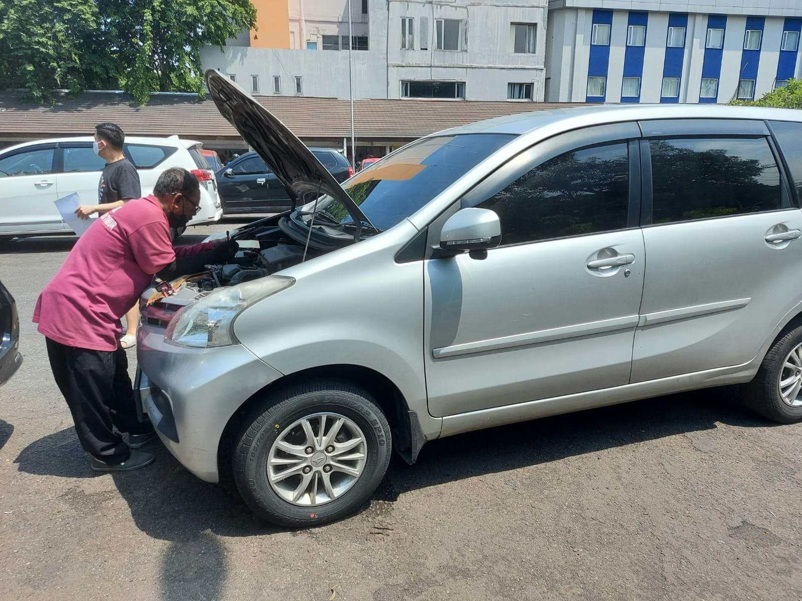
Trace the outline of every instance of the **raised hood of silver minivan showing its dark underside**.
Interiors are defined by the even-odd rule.
[[[206,85],[217,110],[284,184],[293,208],[314,200],[320,192],[340,200],[355,223],[371,223],[309,148],[265,107],[213,69],[206,71]],[[310,198],[305,198],[309,193]]]

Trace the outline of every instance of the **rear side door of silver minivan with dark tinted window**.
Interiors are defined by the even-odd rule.
[[[641,125],[646,276],[632,381],[751,361],[800,299],[802,212],[776,143],[762,121]]]

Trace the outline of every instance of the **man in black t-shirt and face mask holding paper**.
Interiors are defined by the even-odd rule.
[[[125,134],[116,123],[98,123],[95,126],[95,143],[92,145],[99,157],[106,161],[98,184],[98,204],[82,204],[75,215],[89,219],[93,213],[109,212],[122,207],[126,201],[141,198],[140,174],[133,163],[123,154]],[[120,340],[124,349],[136,345],[136,328],[140,321],[140,309],[134,305],[125,314],[125,336]]]

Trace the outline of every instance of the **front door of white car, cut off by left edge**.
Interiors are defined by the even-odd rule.
[[[55,200],[55,144],[36,144],[0,156],[0,233],[63,232]]]

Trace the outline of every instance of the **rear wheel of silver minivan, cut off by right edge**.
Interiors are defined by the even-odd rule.
[[[802,325],[772,345],[743,392],[751,409],[774,422],[802,420]]]

